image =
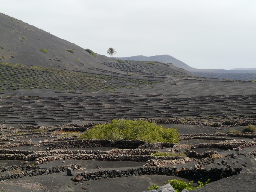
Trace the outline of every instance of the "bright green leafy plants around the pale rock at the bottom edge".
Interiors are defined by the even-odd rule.
[[[198,181],[198,186],[196,186],[196,187],[193,187],[193,181],[189,181],[189,184],[187,184],[186,182],[182,181],[182,179],[168,180],[167,183],[171,184],[171,186],[175,189],[175,192],[181,192],[183,189],[187,189],[187,190],[198,189],[198,188],[203,187],[206,184],[208,184],[209,181],[210,181],[210,179],[208,179],[205,183]],[[160,188],[159,186],[154,184],[152,187],[149,187],[148,189],[152,190],[152,189],[159,189],[159,188]]]

